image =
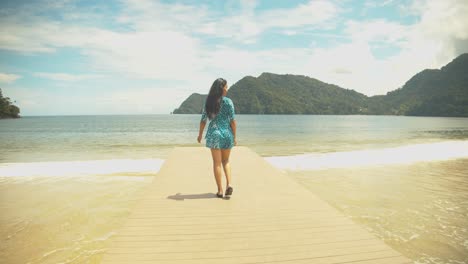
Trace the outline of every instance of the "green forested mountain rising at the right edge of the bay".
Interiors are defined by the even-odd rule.
[[[369,101],[377,114],[468,116],[468,53],[440,70],[423,70],[402,88]]]

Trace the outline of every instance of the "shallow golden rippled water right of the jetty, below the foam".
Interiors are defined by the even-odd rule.
[[[468,263],[468,159],[289,175],[415,263]]]

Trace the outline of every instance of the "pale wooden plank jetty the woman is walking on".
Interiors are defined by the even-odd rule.
[[[412,263],[249,148],[230,162],[227,200],[209,149],[175,148],[101,263]]]

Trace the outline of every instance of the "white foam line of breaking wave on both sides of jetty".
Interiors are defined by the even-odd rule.
[[[264,157],[285,170],[323,170],[364,166],[411,164],[468,157],[468,141],[413,144],[394,148],[366,149],[293,156]],[[89,161],[0,163],[0,177],[21,176],[154,176],[163,159],[110,159]]]

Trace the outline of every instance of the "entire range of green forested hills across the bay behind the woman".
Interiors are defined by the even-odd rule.
[[[199,114],[207,95],[190,95],[174,114]],[[227,96],[238,114],[411,115],[468,117],[468,53],[439,69],[423,70],[386,95],[354,90],[302,75],[246,76]]]

